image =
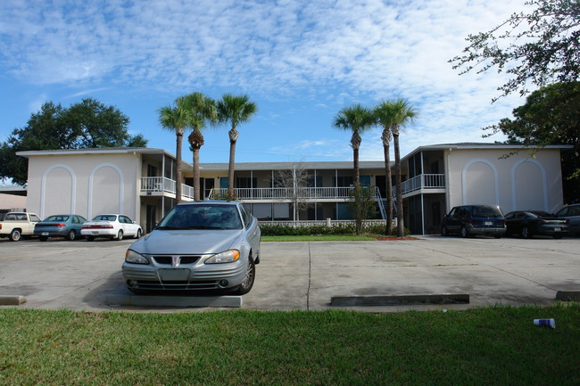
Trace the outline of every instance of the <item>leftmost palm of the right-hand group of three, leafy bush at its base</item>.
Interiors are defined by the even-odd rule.
[[[353,161],[353,180],[355,187],[360,185],[359,171],[359,149],[360,134],[371,127],[375,119],[370,109],[360,104],[354,104],[350,107],[344,107],[335,117],[334,126],[347,131],[352,131],[351,147]]]

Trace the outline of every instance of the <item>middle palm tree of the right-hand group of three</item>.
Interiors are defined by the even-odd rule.
[[[385,189],[386,189],[386,227],[385,234],[391,234],[393,226],[393,181],[391,177],[391,141],[393,140],[393,133],[391,127],[393,126],[394,109],[393,103],[383,101],[378,103],[373,110],[377,125],[383,127],[383,150],[385,152]]]

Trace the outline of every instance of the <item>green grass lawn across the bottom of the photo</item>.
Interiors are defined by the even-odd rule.
[[[553,317],[556,329],[536,327]],[[580,307],[0,309],[2,385],[577,385]]]

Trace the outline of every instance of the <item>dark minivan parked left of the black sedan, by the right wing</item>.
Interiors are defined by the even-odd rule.
[[[443,217],[441,234],[460,234],[470,237],[476,234],[501,238],[506,232],[505,218],[497,205],[462,205],[454,207]]]

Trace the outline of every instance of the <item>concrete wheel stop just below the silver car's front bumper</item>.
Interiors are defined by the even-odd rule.
[[[148,295],[108,295],[108,306],[149,306],[149,307],[242,307],[241,296],[148,296]]]

